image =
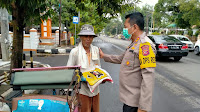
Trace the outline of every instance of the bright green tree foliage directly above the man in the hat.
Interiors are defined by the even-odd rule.
[[[58,26],[59,2],[51,0],[57,15],[53,16],[53,24]],[[72,17],[78,16],[80,11],[80,26],[91,24],[94,26],[95,33],[99,33],[107,25],[110,19],[117,17],[118,13],[127,5],[127,0],[62,0],[62,23],[67,23],[70,31],[74,33],[75,25],[72,23]],[[123,5],[122,5],[123,4]],[[91,13],[92,12],[92,13]]]

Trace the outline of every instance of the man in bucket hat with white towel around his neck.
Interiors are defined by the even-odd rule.
[[[81,66],[81,72],[95,69],[100,66],[99,48],[92,45],[96,34],[92,25],[85,24],[78,34],[81,42],[70,52],[67,66]],[[93,93],[90,92],[86,83],[81,83],[80,89],[81,107],[79,112],[99,112],[99,87]]]

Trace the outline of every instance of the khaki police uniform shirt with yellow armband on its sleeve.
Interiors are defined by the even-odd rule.
[[[143,33],[124,54],[104,55],[106,62],[121,64],[119,95],[124,104],[141,110],[152,110],[155,54],[155,45]]]

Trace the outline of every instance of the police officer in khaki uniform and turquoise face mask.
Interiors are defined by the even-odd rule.
[[[121,55],[104,54],[100,56],[106,62],[121,64],[119,75],[119,95],[123,112],[147,112],[152,110],[152,92],[154,70],[156,67],[156,49],[153,42],[144,33],[144,17],[135,12],[127,15],[123,35],[132,40],[130,46]]]

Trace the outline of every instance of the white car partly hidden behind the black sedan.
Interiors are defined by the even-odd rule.
[[[188,44],[188,50],[194,51],[194,44],[190,41],[190,39],[183,35],[169,35],[179,39],[182,43]]]

